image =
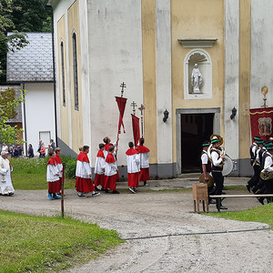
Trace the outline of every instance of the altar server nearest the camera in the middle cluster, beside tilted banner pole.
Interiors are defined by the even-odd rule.
[[[105,190],[108,192],[108,188],[112,190],[113,194],[119,194],[116,190],[116,159],[114,157],[114,146],[109,147],[109,153],[106,157],[106,168],[105,168]]]

